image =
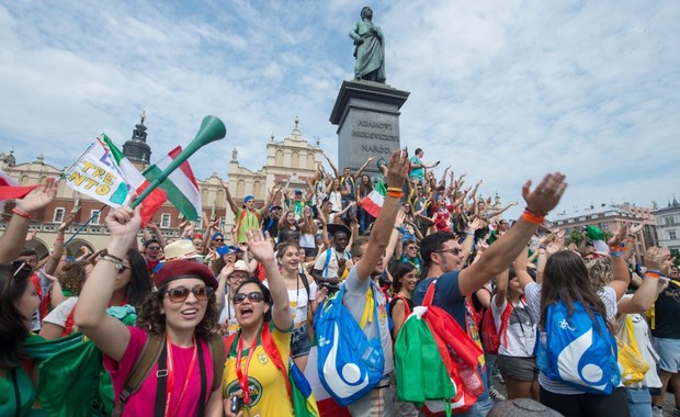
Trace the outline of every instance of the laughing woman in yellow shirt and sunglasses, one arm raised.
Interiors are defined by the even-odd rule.
[[[269,289],[254,279],[241,282],[236,289],[234,305],[240,330],[226,342],[225,413],[229,417],[293,416],[283,373],[262,347],[262,338],[271,338],[281,358],[285,360],[290,357],[293,318],[288,291],[279,272],[269,238],[250,230],[248,247],[263,266]],[[273,305],[275,308],[272,309]],[[248,414],[243,413],[246,409]]]

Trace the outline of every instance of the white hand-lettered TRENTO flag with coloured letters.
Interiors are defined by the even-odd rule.
[[[66,184],[111,207],[120,207],[127,198],[127,184],[104,143],[97,138],[64,171]]]

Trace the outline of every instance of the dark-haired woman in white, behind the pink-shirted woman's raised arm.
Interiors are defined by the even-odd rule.
[[[83,277],[80,277],[82,283],[78,288],[76,296],[56,306],[43,320],[39,334],[43,338],[47,340],[57,339],[77,330],[73,316],[76,314],[76,305],[80,300],[78,295],[87,277],[92,272],[92,264],[89,262],[84,263]],[[128,249],[121,264],[122,268],[116,273],[113,293],[107,306],[121,307],[132,305],[135,309],[138,309],[145,296],[151,292],[151,279],[146,269],[146,262],[137,250]],[[65,269],[67,268],[65,267]]]

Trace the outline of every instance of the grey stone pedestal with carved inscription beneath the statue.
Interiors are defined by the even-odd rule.
[[[372,81],[342,81],[330,123],[338,125],[338,169],[359,169],[373,156],[389,160],[400,148],[399,109],[410,92]],[[376,164],[366,167],[377,173]]]

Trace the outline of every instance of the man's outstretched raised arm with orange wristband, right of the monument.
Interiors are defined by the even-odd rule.
[[[566,188],[565,176],[559,172],[546,174],[533,191],[530,190],[531,181],[526,181],[522,187],[526,211],[508,233],[485,251],[478,262],[461,271],[458,285],[463,295],[481,288],[517,258],[536,232],[542,217],[555,208]]]

